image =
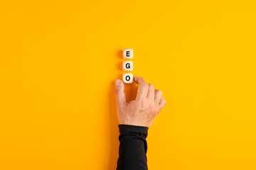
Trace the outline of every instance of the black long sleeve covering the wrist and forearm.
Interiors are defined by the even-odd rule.
[[[119,126],[119,158],[117,170],[147,170],[146,137],[148,129],[144,126]]]

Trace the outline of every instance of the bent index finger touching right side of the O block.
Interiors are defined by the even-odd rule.
[[[134,81],[135,83],[139,84],[136,100],[142,100],[146,98],[149,91],[149,84],[147,84],[142,77],[134,77]]]

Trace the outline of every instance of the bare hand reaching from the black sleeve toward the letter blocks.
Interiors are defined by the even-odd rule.
[[[139,84],[137,97],[134,101],[126,101],[124,83],[120,79],[115,81],[117,96],[117,118],[119,124],[149,127],[166,101],[162,92],[154,89],[153,84],[147,84],[142,77],[134,77]]]

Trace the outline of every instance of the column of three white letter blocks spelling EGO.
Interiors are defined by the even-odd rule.
[[[133,58],[133,50],[132,49],[124,49],[123,50],[123,58],[124,59],[132,59]],[[132,71],[133,70],[133,62],[132,61],[124,61],[122,63],[124,71]],[[133,74],[132,73],[124,73],[123,81],[125,84],[132,84],[133,82]]]

